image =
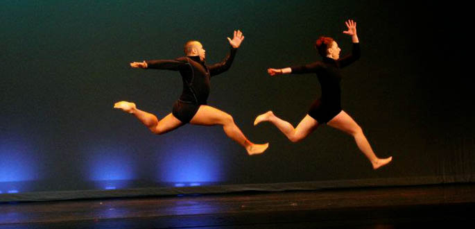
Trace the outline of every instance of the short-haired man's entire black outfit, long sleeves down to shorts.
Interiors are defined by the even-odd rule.
[[[180,71],[183,80],[183,92],[173,105],[173,116],[188,123],[198,112],[200,105],[207,104],[209,79],[231,67],[237,49],[231,48],[226,58],[214,65],[206,65],[199,56],[184,56],[175,60],[146,60],[148,69],[168,69]]]

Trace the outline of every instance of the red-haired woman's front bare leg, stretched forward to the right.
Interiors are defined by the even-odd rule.
[[[368,139],[366,139],[365,135],[363,134],[361,127],[358,126],[352,117],[349,117],[345,111],[342,110],[338,115],[336,115],[336,117],[331,119],[328,122],[328,126],[337,128],[338,130],[342,130],[343,132],[352,135],[356,141],[356,145],[358,145],[358,148],[361,150],[361,152],[363,152],[366,158],[370,160],[373,169],[378,169],[379,167],[391,162],[392,157],[381,159],[374,154]]]

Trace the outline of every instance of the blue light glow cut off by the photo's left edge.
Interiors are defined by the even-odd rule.
[[[0,136],[1,137],[1,136]],[[12,137],[0,139],[0,183],[37,180],[37,158],[28,142]]]

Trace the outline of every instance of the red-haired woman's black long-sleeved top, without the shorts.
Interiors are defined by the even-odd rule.
[[[340,108],[340,68],[347,67],[352,62],[358,60],[360,56],[359,43],[353,43],[351,54],[339,58],[338,60],[324,57],[322,61],[313,62],[309,65],[291,67],[292,74],[316,73],[322,88],[322,95],[320,97],[322,104],[325,103],[331,106],[338,105],[338,108]]]

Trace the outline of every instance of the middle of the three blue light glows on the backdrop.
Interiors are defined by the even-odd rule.
[[[135,164],[129,153],[117,147],[96,147],[89,151],[89,161],[85,165],[89,180],[133,180]]]

